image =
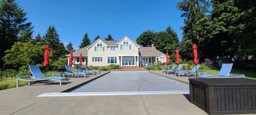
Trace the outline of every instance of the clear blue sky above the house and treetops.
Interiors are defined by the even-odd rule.
[[[114,40],[124,35],[136,40],[147,29],[165,31],[167,26],[182,38],[183,18],[176,4],[180,0],[17,0],[28,12],[35,36],[54,25],[60,40],[79,48],[85,32],[91,41],[111,34]]]

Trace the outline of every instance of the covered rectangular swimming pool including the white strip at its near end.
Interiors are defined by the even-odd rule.
[[[147,71],[137,71],[110,72],[68,93],[46,93],[38,97],[188,93],[188,84]]]

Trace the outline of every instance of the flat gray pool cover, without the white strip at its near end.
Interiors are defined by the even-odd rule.
[[[71,92],[189,91],[187,84],[150,72],[110,72]]]

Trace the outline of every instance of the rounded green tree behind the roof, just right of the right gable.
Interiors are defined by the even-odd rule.
[[[145,47],[151,45],[153,39],[154,31],[148,29],[148,31],[145,31],[139,35],[139,37],[136,39],[136,42]]]

